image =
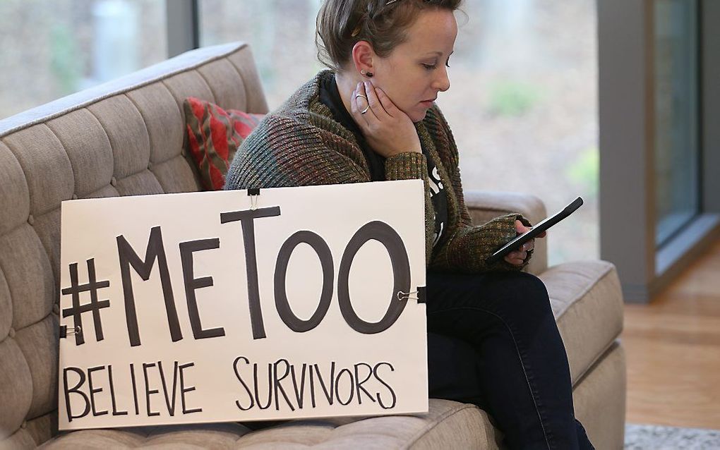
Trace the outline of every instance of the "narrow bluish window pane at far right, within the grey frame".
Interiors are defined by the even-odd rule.
[[[656,243],[699,212],[696,0],[655,5]]]

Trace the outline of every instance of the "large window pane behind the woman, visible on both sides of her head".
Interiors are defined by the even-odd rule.
[[[201,43],[250,42],[272,109],[323,67],[320,3],[202,0]],[[533,193],[549,213],[581,195],[585,206],[550,233],[550,261],[598,257],[595,1],[470,0],[463,10],[438,104],[464,188]]]

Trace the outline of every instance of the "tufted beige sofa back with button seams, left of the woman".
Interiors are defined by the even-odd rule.
[[[187,96],[267,112],[238,42],[0,120],[0,448],[57,432],[60,202],[199,190],[183,150]]]

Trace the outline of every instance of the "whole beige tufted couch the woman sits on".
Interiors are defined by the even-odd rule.
[[[183,152],[181,102],[266,112],[247,45],[195,50],[0,121],[0,448],[166,446],[257,449],[497,449],[473,405],[431,400],[427,414],[75,431],[57,435],[60,202],[197,191]],[[476,222],[505,211],[545,215],[535,197],[468,192]],[[577,418],[598,449],[624,436],[623,300],[604,261],[529,270],[545,282],[570,358]]]

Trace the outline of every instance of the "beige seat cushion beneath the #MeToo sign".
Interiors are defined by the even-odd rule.
[[[248,426],[257,424],[248,423]],[[474,405],[430,400],[426,414],[289,420],[252,431],[240,423],[60,433],[43,449],[497,449],[500,433]]]

